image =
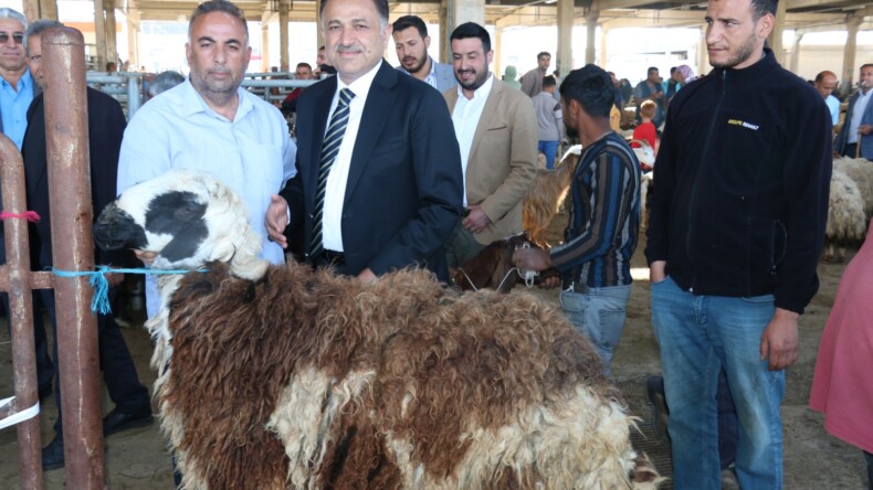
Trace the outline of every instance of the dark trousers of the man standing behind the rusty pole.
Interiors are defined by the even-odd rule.
[[[57,359],[57,328],[54,313],[54,291],[46,290],[44,300],[52,320],[52,334],[54,335],[54,359]],[[115,288],[109,289],[109,301],[115,299]],[[48,296],[48,298],[46,298]],[[149,405],[148,390],[139,382],[134,360],[124,340],[120,328],[112,315],[97,316],[97,350],[99,353],[101,370],[109,400],[122,412],[135,412]],[[61,416],[61,381],[54,383],[54,400],[57,403],[57,420],[54,423],[56,437],[63,437]]]

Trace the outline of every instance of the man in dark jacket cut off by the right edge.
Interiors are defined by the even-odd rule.
[[[852,158],[861,156],[870,160],[873,159],[873,104],[870,104],[873,63],[861,66],[859,83],[861,87],[849,99],[845,122],[837,135],[834,153]]]

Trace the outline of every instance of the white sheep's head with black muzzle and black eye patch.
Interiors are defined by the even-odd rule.
[[[236,194],[213,175],[172,170],[126,190],[94,225],[104,249],[135,248],[157,254],[158,269],[197,268],[227,262],[231,273],[260,278],[261,238]]]

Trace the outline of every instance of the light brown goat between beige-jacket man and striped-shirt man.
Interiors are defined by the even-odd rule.
[[[567,196],[580,151],[580,146],[570,148],[555,170],[538,169],[522,202],[522,227],[530,242],[539,247],[548,247],[546,231]]]

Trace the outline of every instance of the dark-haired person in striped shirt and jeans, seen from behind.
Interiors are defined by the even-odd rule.
[[[591,64],[574,70],[561,83],[567,135],[578,132],[583,148],[572,179],[565,243],[548,252],[526,248],[513,255],[522,270],[554,267],[561,273],[561,308],[593,343],[604,374],[624,328],[630,262],[640,228],[640,163],[609,126],[614,90],[609,74]]]

